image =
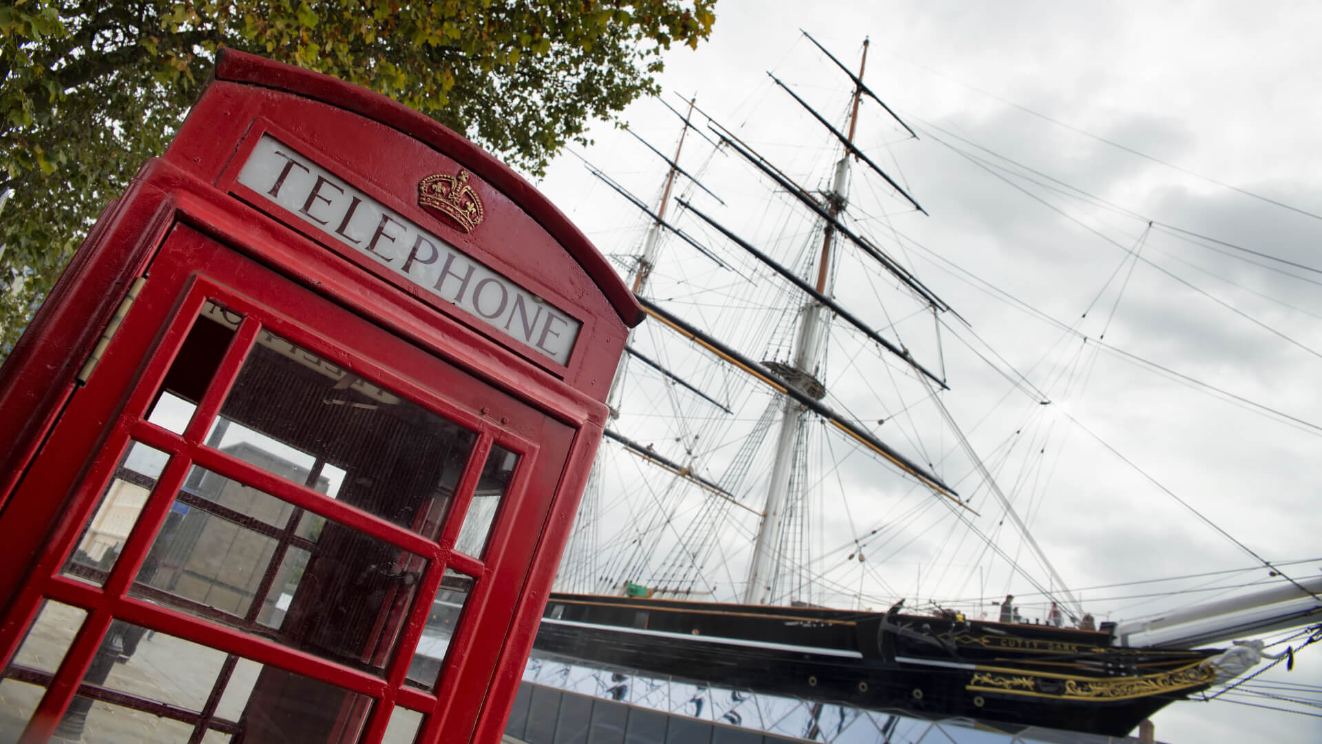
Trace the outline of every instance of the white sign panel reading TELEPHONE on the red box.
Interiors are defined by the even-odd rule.
[[[501,334],[568,364],[579,320],[271,135],[253,148],[238,183]]]

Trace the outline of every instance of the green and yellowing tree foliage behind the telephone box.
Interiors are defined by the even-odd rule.
[[[159,155],[222,46],[358,83],[539,173],[654,93],[715,0],[0,4],[0,357],[104,203]]]

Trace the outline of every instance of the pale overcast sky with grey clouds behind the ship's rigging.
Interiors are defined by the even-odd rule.
[[[775,73],[839,124],[847,79],[798,29],[806,29],[851,68],[857,68],[863,37],[871,38],[867,85],[921,136],[907,139],[883,110],[865,102],[858,142],[931,216],[911,210],[855,164],[855,224],[910,266],[972,323],[977,336],[1051,400],[1040,406],[1010,392],[1007,410],[993,405],[1006,396],[1009,385],[952,338],[972,339],[972,334],[960,331],[949,314],[944,319],[954,327],[943,331],[944,357],[936,356],[936,346],[924,340],[923,332],[907,330],[906,323],[898,328],[908,334],[906,343],[924,363],[940,367],[944,359],[953,388],[947,405],[998,473],[1002,488],[1015,499],[1066,582],[1080,589],[1253,567],[1244,548],[1198,522],[1153,482],[1268,560],[1319,555],[1322,516],[1313,508],[1313,498],[1322,481],[1322,293],[1317,283],[1322,274],[1251,257],[1277,271],[1263,269],[1241,261],[1245,254],[1236,248],[1200,246],[1177,234],[1187,230],[1322,267],[1317,250],[1322,220],[1314,216],[1322,214],[1322,48],[1314,32],[1319,26],[1322,7],[1284,3],[722,0],[711,41],[698,52],[673,50],[661,83],[672,105],[680,106],[674,91],[695,94],[699,107],[736,128],[787,172],[810,188],[822,188],[830,160],[838,156],[830,135],[802,115],[764,73]],[[640,102],[627,118],[652,144],[668,154],[673,150],[678,119],[664,107]],[[660,160],[632,138],[608,128],[594,136],[594,147],[576,152],[641,199],[654,200],[664,173]],[[791,225],[776,222],[781,217],[769,212],[734,216],[772,189],[736,158],[719,155],[709,163],[706,151],[710,147],[693,148],[682,163],[702,171],[703,183],[730,203],[730,209],[718,210],[718,218],[750,238],[759,228],[769,234],[775,225]],[[1040,175],[1029,175],[1058,191],[997,171],[1034,199],[966,155],[989,162],[1007,158],[1018,165],[1006,167],[1031,168]],[[735,185],[727,172],[760,185]],[[1067,199],[1060,195],[1066,187],[1047,179],[1109,205]],[[578,158],[557,162],[541,187],[604,253],[637,253],[641,218],[594,181]],[[695,204],[717,209],[703,199],[694,195]],[[788,209],[784,200],[779,209]],[[1149,220],[1154,221],[1150,232],[1145,230]],[[720,245],[691,216],[680,221],[705,242],[717,244],[720,256],[742,261],[732,246]],[[761,240],[775,244],[780,238]],[[772,245],[772,253],[791,261],[791,242]],[[706,286],[699,297],[710,302],[676,311],[719,330],[728,322],[714,308],[752,295],[742,289],[726,291],[723,287],[738,281],[686,250],[670,241],[662,253],[662,261],[681,267],[669,274],[672,283],[665,291],[673,295],[677,286],[695,291]],[[1146,262],[1138,262],[1130,274],[1129,252],[1134,250]],[[878,324],[894,320],[861,307],[871,285],[861,285],[865,271],[850,266],[841,266],[837,297]],[[703,277],[709,285],[701,283]],[[1099,352],[1096,346],[1088,347],[993,297],[978,282],[1075,326],[1093,340],[1105,327],[1105,343],[1118,352]],[[758,283],[764,291],[789,294],[767,290],[775,282],[765,277]],[[1092,312],[1080,319],[1095,298]],[[923,323],[929,328],[932,320],[928,316]],[[838,336],[833,335],[833,343]],[[639,343],[646,342],[640,338]],[[746,351],[756,355],[765,349]],[[982,347],[980,351],[985,355]],[[859,418],[894,413],[894,401],[871,402],[878,391],[867,381],[869,369],[851,367],[833,346],[829,369],[842,381],[829,380],[828,400]],[[1124,355],[1278,413],[1264,414],[1249,404],[1210,395]],[[707,373],[703,381],[724,389],[719,375]],[[759,398],[743,400],[750,409],[759,405]],[[661,397],[654,401],[665,405]],[[760,405],[765,405],[764,398]],[[1282,414],[1302,424],[1282,421]],[[625,422],[621,418],[620,426]],[[894,428],[874,430],[883,440],[896,437],[892,443],[915,457],[953,447],[949,436],[931,440],[927,449],[915,438],[898,436]],[[1025,441],[998,465],[997,447],[1013,441],[1017,430]],[[1039,457],[1032,459],[1031,453]],[[846,459],[841,482],[867,483],[875,463],[858,455]],[[951,478],[960,473],[954,466],[943,471],[940,463],[937,471]],[[717,477],[719,470],[710,474]],[[828,519],[818,528],[825,526],[837,537],[857,535],[851,531],[876,524],[896,508],[883,496],[865,494],[863,504],[851,507],[861,514],[850,514],[849,523]],[[982,492],[977,498],[989,496]],[[984,511],[994,516],[992,503],[986,506]],[[927,523],[911,527],[920,524]],[[993,531],[994,523],[986,530]],[[1009,532],[1009,527],[1003,530]],[[917,559],[898,556],[882,573],[884,585],[900,596],[993,597],[1031,590],[1011,575],[984,575],[981,586],[966,581],[935,586],[936,579],[923,577],[924,561],[932,560],[924,551],[949,544],[924,548],[924,539],[911,545],[917,548]],[[969,547],[962,549],[976,555]],[[1007,549],[1023,547],[1011,537]],[[1019,555],[1025,564],[1032,563],[1026,553]],[[973,563],[961,565],[972,575],[977,571]],[[927,565],[929,571],[933,567]],[[1311,560],[1288,571],[1317,576],[1318,569],[1319,561]],[[1178,585],[1084,590],[1084,608],[1112,620],[1133,618],[1223,594],[1124,597],[1268,579],[1264,568]],[[1322,654],[1310,650],[1293,673],[1273,675],[1322,683]],[[1158,737],[1173,743],[1311,741],[1322,739],[1318,720],[1224,702],[1179,703],[1155,719]]]

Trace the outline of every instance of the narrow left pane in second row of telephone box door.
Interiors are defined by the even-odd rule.
[[[157,449],[130,442],[97,511],[83,527],[78,548],[65,564],[65,573],[98,586],[106,581],[168,461],[169,455]]]

